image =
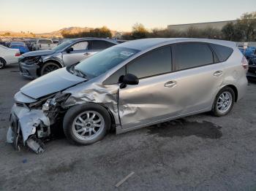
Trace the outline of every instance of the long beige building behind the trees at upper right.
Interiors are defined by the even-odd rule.
[[[222,27],[227,25],[227,23],[236,23],[237,20],[225,20],[225,21],[217,21],[217,22],[208,22],[208,23],[191,23],[191,24],[181,24],[181,25],[169,25],[167,28],[169,30],[176,30],[176,31],[187,31],[188,28],[217,28],[222,30]]]

